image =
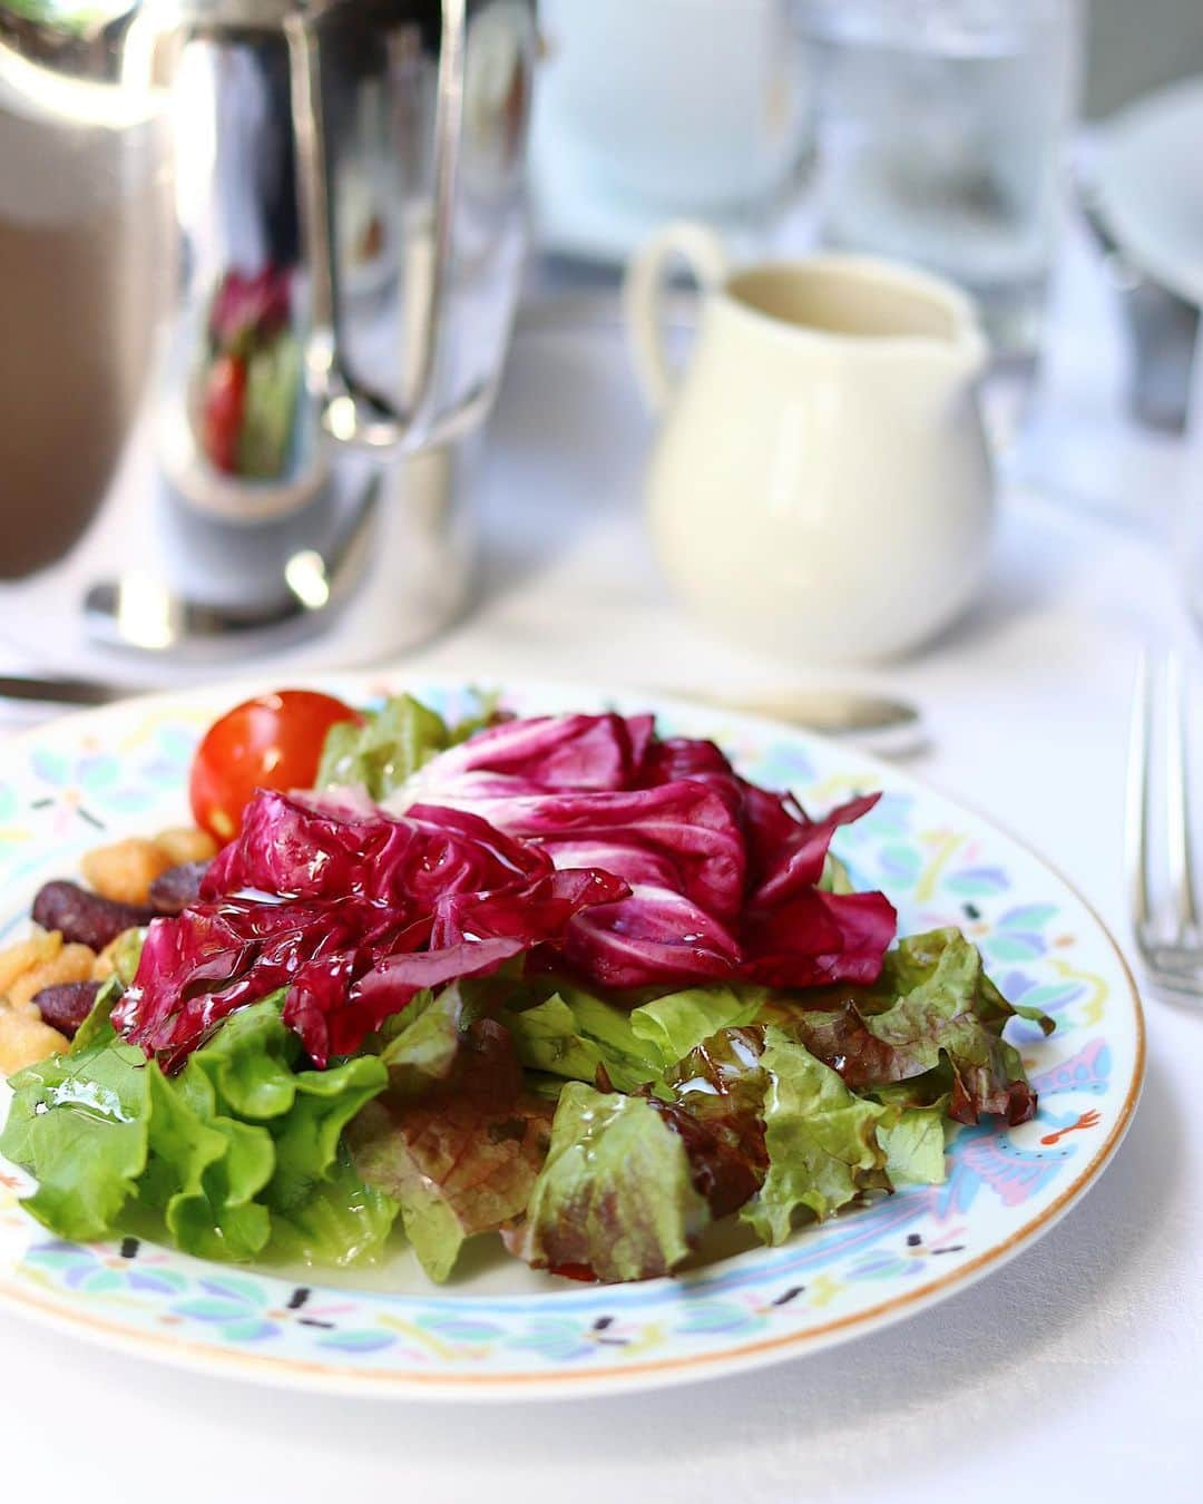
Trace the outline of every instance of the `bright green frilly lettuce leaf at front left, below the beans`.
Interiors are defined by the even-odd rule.
[[[230,1262],[268,1248],[329,1263],[379,1251],[397,1208],[358,1182],[341,1139],[383,1090],[383,1062],[296,1069],[277,994],[168,1077],[113,1030],[119,991],[101,991],[71,1053],[12,1080],[0,1152],[36,1178],[33,1215],[62,1238],[137,1226]]]

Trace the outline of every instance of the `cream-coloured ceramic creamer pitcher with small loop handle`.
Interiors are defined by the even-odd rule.
[[[680,378],[657,307],[675,259],[702,287]],[[967,605],[992,514],[967,298],[868,257],[731,272],[710,230],[674,224],[635,257],[626,301],[663,423],[653,543],[690,606],[794,660],[853,663],[916,647]]]

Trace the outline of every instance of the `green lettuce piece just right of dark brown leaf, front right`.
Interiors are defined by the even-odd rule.
[[[881,1184],[886,1155],[877,1140],[883,1108],[854,1096],[836,1072],[797,1039],[768,1024],[761,1069],[768,1173],[743,1208],[762,1242],[789,1236],[798,1212],[815,1218]]]

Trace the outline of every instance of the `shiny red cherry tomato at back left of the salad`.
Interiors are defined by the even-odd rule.
[[[311,689],[281,689],[235,705],[205,732],[192,758],[192,817],[217,841],[233,841],[257,788],[310,788],[326,732],[358,710]]]

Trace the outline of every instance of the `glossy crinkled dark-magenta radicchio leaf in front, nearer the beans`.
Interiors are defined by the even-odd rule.
[[[323,1066],[423,988],[558,940],[626,884],[556,871],[466,811],[368,808],[260,793],[200,902],[156,919],[116,1026],[170,1068],[223,1018],[286,988],[284,1021]]]

